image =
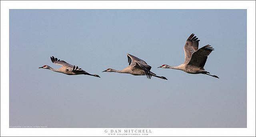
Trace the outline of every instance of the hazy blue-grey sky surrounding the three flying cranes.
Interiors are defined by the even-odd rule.
[[[190,34],[220,79],[184,62]],[[126,54],[168,80],[101,71]],[[65,75],[50,56],[88,75]],[[246,127],[246,10],[10,10],[10,126]]]

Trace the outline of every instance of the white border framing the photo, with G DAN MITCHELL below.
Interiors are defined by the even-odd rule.
[[[146,129],[152,131],[149,136],[255,136],[255,1],[1,1],[0,5],[1,136],[106,136],[104,130],[113,129],[9,128],[9,9],[247,9],[247,128]]]

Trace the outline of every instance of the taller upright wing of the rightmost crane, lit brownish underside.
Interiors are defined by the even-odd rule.
[[[196,36],[194,36],[194,34],[192,33],[188,39],[186,40],[186,44],[184,46],[184,53],[185,53],[185,61],[184,63],[188,63],[192,54],[198,50],[198,44],[199,44],[198,38],[196,38]]]

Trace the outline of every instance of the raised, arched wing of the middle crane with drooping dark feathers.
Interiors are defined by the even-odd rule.
[[[128,63],[130,66],[144,70],[147,75],[147,78],[151,79],[151,77],[152,77],[150,75],[151,66],[149,66],[144,60],[141,60],[141,59],[139,59],[135,56],[132,56],[130,54],[127,54],[127,58],[128,58]]]

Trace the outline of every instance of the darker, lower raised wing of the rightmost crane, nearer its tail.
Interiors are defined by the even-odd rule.
[[[188,65],[198,66],[201,69],[204,69],[204,65],[207,60],[207,56],[214,50],[210,45],[206,45],[192,54],[191,59],[188,62]]]

